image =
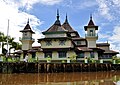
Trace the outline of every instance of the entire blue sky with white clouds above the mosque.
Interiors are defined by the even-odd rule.
[[[36,42],[42,38],[42,31],[47,30],[56,20],[59,9],[60,21],[65,21],[66,13],[70,25],[85,36],[84,26],[88,24],[90,14],[95,25],[99,26],[97,42],[109,42],[112,50],[120,51],[120,0],[0,0],[0,31],[19,41],[27,20],[36,33]]]

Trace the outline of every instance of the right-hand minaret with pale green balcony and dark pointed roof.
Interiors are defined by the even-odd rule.
[[[87,46],[89,48],[96,48],[96,40],[98,39],[98,34],[96,33],[96,30],[98,30],[98,26],[94,25],[92,15],[90,16],[90,21],[88,25],[84,26],[84,29],[85,31],[87,31],[87,33],[85,34]]]

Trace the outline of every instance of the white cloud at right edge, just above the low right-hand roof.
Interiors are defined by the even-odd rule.
[[[120,51],[120,26],[115,26],[112,32],[106,31],[104,33],[99,33],[99,39],[103,41],[108,40],[108,42],[110,43],[110,49],[119,52]]]

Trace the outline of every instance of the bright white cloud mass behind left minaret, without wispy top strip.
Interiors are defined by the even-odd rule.
[[[22,36],[20,30],[23,30],[28,18],[30,19],[30,25],[33,31],[37,32],[35,39],[40,38],[41,31],[37,30],[37,27],[42,22],[34,15],[19,10],[19,6],[16,2],[0,1],[0,31],[7,34],[8,19],[9,19],[9,35],[15,38],[15,41],[19,41],[19,37]]]

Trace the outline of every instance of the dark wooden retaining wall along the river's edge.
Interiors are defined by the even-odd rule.
[[[0,73],[60,73],[118,70],[120,70],[120,64],[0,62]]]

